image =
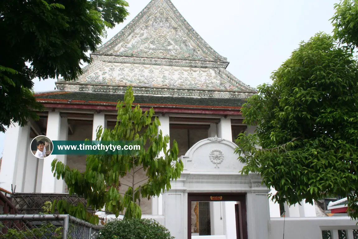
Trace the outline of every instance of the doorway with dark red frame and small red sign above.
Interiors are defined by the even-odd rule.
[[[235,223],[223,221],[224,207],[234,214],[231,218]],[[188,193],[188,239],[202,238],[201,236],[222,238],[229,234],[224,229],[227,228],[224,226],[227,223],[236,226],[236,230],[231,228],[236,231],[236,239],[248,238],[246,193]]]

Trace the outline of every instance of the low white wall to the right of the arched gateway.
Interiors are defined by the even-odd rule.
[[[285,222],[284,222],[285,220]],[[322,230],[358,229],[356,223],[348,216],[333,216],[324,218],[271,218],[270,239],[283,237],[285,223],[285,238],[290,239],[322,239]]]

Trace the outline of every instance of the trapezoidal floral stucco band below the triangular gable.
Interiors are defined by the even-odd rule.
[[[109,62],[98,67],[78,83],[174,87],[207,90],[242,90],[235,82],[221,77],[213,68],[156,66]]]

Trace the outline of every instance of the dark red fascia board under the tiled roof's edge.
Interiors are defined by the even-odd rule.
[[[116,105],[86,105],[86,104],[61,104],[61,103],[42,103],[47,108],[58,109],[81,109],[81,110],[102,110],[117,111]],[[142,110],[149,110],[150,107],[141,107]],[[173,107],[153,107],[156,113],[181,113],[181,114],[215,114],[215,115],[241,115],[241,109],[222,110],[222,109],[183,109]]]

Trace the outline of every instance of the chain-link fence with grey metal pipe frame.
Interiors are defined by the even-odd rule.
[[[69,215],[0,215],[1,239],[96,239],[101,228]]]

